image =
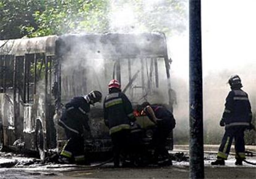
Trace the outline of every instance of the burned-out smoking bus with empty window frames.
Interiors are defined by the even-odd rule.
[[[66,34],[0,41],[0,121],[2,148],[40,151],[61,148],[58,126],[70,98],[100,90],[108,93],[115,78],[134,105],[161,103],[172,111],[173,96],[163,33]],[[136,111],[135,111],[136,112]],[[150,142],[153,123],[135,113]],[[91,133],[85,151],[111,150],[103,104],[90,112]],[[173,149],[172,133],[166,147]]]

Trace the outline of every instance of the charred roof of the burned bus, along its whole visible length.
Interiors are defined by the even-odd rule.
[[[57,47],[57,48],[56,48]],[[87,53],[88,58],[166,57],[163,33],[66,34],[0,41],[0,55]]]

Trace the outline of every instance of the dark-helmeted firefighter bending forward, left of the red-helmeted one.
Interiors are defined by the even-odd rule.
[[[67,143],[61,151],[60,163],[88,164],[84,155],[83,130],[90,132],[88,113],[90,105],[101,102],[101,92],[93,90],[84,97],[74,97],[65,105],[59,125],[64,128]]]

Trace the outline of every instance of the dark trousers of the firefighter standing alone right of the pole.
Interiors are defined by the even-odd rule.
[[[236,159],[245,159],[244,126],[226,127],[221,145],[217,154],[218,158],[227,159],[234,138]]]

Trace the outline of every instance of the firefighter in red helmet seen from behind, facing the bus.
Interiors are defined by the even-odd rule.
[[[109,94],[105,97],[103,104],[104,120],[113,143],[114,167],[119,167],[121,154],[126,154],[129,150],[127,141],[135,116],[132,104],[121,92],[119,81],[112,79],[108,89]]]

